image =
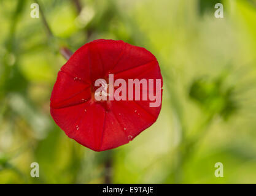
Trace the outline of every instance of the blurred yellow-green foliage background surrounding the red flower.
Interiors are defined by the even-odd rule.
[[[38,0],[31,18],[33,2],[0,0],[0,183],[256,183],[255,0]],[[60,48],[95,39],[152,51],[164,81],[157,122],[101,153],[49,112]]]

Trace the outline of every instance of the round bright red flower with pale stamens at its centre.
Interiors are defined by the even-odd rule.
[[[120,40],[95,40],[80,47],[58,72],[50,112],[68,137],[95,151],[133,140],[157,120],[161,109],[161,102],[150,107],[150,100],[97,101],[95,81],[107,80],[109,74],[115,80],[151,78],[163,83],[157,59],[145,48]]]

